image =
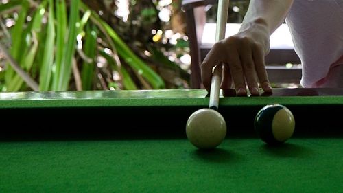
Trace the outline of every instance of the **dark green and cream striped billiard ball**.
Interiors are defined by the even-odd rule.
[[[267,144],[282,144],[292,137],[294,128],[292,112],[281,104],[268,104],[255,117],[256,133]]]

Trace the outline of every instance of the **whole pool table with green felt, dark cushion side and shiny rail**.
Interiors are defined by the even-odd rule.
[[[253,124],[287,106],[281,146]],[[0,93],[0,192],[343,192],[343,90],[274,89],[220,95],[228,125],[215,150],[187,140],[204,89]]]

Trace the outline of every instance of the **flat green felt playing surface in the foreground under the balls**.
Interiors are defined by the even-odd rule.
[[[0,143],[0,192],[342,192],[342,139]]]

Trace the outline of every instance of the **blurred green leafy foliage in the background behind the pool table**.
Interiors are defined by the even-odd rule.
[[[0,91],[189,89],[186,20],[181,0],[0,0]]]

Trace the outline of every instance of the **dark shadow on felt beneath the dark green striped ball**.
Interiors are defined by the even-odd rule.
[[[299,146],[292,143],[282,144],[263,144],[261,152],[264,152],[272,157],[308,157],[313,153],[309,148]]]

